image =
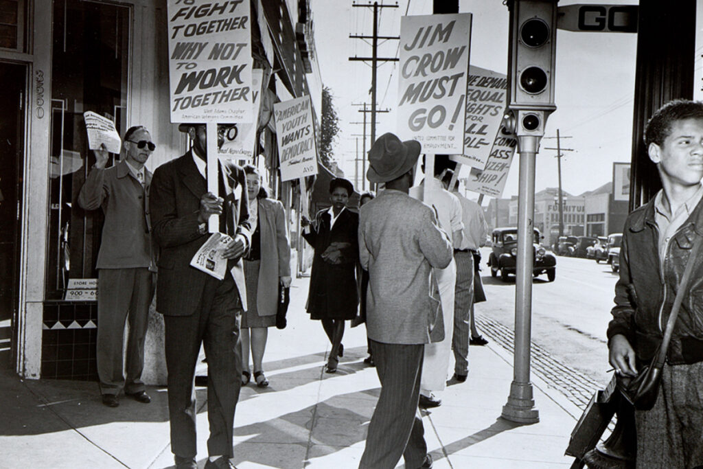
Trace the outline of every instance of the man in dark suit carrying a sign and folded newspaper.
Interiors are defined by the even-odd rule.
[[[154,172],[150,211],[160,246],[156,309],[164,315],[171,451],[176,468],[195,463],[193,376],[201,342],[207,356],[207,419],[210,436],[205,468],[233,468],[234,411],[242,375],[239,324],[243,304],[240,258],[250,245],[246,179],[242,168],[220,163],[219,196],[207,191],[205,124],[181,124],[193,148]],[[209,238],[207,220],[220,216],[220,231],[234,238],[224,251],[228,272],[221,281],[191,266]]]

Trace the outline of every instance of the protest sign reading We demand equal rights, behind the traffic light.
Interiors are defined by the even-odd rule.
[[[491,154],[494,136],[501,129],[508,101],[508,77],[469,67],[466,87],[466,126],[462,163],[483,169]]]

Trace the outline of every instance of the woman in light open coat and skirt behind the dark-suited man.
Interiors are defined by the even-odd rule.
[[[278,289],[290,287],[290,243],[286,230],[283,204],[271,200],[262,186],[259,170],[246,165],[249,218],[252,245],[244,257],[244,278],[247,285],[247,311],[242,314],[242,385],[252,378],[249,369],[251,350],[254,382],[266,387],[263,361],[269,328],[276,326]]]

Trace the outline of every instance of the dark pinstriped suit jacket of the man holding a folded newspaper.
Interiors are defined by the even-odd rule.
[[[225,169],[226,182],[233,191],[220,196],[225,199],[225,209],[233,213],[236,234],[245,236],[248,246],[251,226],[244,171],[233,163],[228,163]],[[235,190],[237,186],[241,190]],[[198,231],[200,198],[206,192],[207,184],[190,151],[158,167],[151,180],[149,206],[153,236],[160,246],[156,309],[161,314],[190,316],[200,302],[209,275],[191,267],[191,259],[209,238],[209,234],[201,235]],[[241,262],[239,259],[238,263]],[[246,288],[237,287],[240,291]]]

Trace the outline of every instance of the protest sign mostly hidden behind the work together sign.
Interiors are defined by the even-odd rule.
[[[219,156],[229,160],[250,160],[254,156],[254,146],[257,139],[257,126],[259,124],[259,99],[262,94],[262,79],[264,70],[252,70],[252,122],[236,124],[233,127],[224,127],[219,132],[224,137],[219,148]]]

